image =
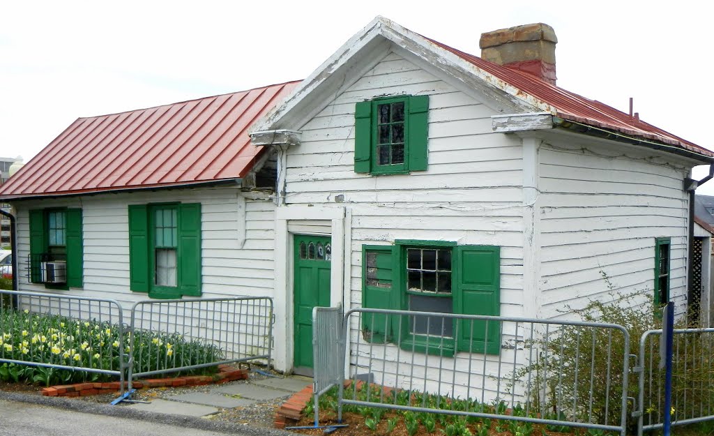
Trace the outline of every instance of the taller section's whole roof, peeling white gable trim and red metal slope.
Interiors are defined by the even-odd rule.
[[[253,127],[253,132],[273,129],[299,129],[312,116],[328,104],[327,99],[356,81],[357,71],[364,72],[371,64],[360,65],[365,52],[394,45],[401,54],[411,54],[424,62],[421,66],[448,76],[453,84],[476,89],[491,99],[489,106],[506,114],[547,112],[553,117],[584,124],[588,127],[618,132],[625,136],[659,144],[669,144],[677,149],[692,152],[698,160],[709,162],[714,153],[708,149],[670,134],[663,129],[641,121],[637,117],[618,111],[600,101],[587,99],[531,74],[494,64],[478,56],[428,39],[381,16],[346,42],[333,56],[298,86],[284,104],[276,106]],[[438,71],[437,71],[438,70]],[[462,88],[463,90],[463,88]],[[488,104],[486,101],[484,103]],[[495,103],[495,104],[494,104]],[[666,149],[666,147],[664,147]]]

